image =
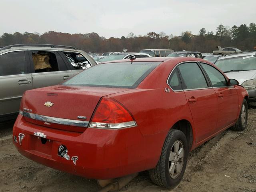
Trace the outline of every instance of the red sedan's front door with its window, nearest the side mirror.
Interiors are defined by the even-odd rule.
[[[238,114],[238,94],[234,86],[228,86],[224,75],[213,66],[206,63],[200,63],[206,72],[211,86],[216,92],[218,98],[218,123],[217,129],[222,130],[232,124]]]

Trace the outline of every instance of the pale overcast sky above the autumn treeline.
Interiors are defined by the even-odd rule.
[[[256,22],[256,0],[1,0],[4,32],[96,32],[106,38],[148,32],[198,34]]]

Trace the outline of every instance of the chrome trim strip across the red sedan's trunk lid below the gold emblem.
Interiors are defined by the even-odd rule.
[[[72,119],[62,119],[62,118],[57,118],[57,117],[49,117],[49,116],[29,113],[26,111],[23,111],[22,115],[24,117],[31,118],[34,120],[39,120],[39,121],[48,122],[48,123],[62,124],[62,125],[88,127],[88,124],[89,124],[89,121],[80,121],[80,120],[72,120]]]

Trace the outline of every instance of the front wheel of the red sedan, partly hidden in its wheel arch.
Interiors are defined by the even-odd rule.
[[[245,110],[244,111],[245,112],[244,115],[243,115],[243,106],[244,106],[244,110]],[[242,107],[241,107],[239,118],[238,118],[236,124],[234,126],[232,126],[230,129],[232,131],[243,131],[243,130],[245,130],[245,128],[247,126],[247,119],[248,119],[248,103],[244,99],[244,101],[242,103]]]

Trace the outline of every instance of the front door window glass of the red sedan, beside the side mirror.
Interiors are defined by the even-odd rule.
[[[227,82],[225,77],[214,67],[201,63],[202,68],[204,68],[208,77],[210,78],[210,82],[213,87],[226,87]]]

